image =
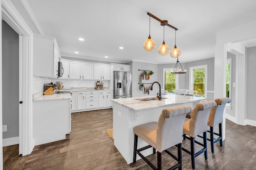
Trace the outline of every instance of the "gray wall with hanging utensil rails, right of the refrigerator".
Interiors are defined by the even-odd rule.
[[[130,62],[127,63],[130,65]],[[158,80],[158,65],[157,64],[151,64],[151,63],[144,63],[144,62],[137,62],[132,61],[132,97],[144,97],[144,96],[156,96],[156,94],[159,92],[159,86],[158,84],[154,84],[153,90],[149,92],[148,94],[144,94],[143,90],[140,90],[139,82],[140,82],[140,73],[142,71],[139,70],[152,70],[154,72],[153,75],[150,75],[149,80],[146,80],[144,77],[144,80],[142,82],[144,83],[153,83]],[[161,88],[162,88],[162,82],[160,82]],[[144,86],[150,86],[151,84],[144,84]]]

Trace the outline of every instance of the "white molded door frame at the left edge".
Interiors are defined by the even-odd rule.
[[[32,117],[32,37],[33,33],[10,0],[1,1],[2,20],[19,34],[19,154],[34,148]]]

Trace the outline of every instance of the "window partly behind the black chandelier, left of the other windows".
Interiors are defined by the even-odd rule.
[[[178,76],[177,74],[171,74],[171,70],[174,70],[174,68],[163,69],[163,89],[168,92],[173,92],[176,88],[178,89]]]

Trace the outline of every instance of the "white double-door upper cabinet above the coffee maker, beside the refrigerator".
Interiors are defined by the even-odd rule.
[[[95,80],[110,80],[110,65],[94,64]]]

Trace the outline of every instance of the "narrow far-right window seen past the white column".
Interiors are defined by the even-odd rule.
[[[226,67],[226,97],[231,98],[231,63],[232,59],[227,59]],[[228,109],[231,109],[231,102],[226,104]]]

